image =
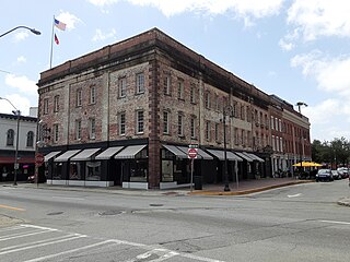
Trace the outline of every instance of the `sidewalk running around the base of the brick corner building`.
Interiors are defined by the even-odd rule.
[[[189,187],[179,189],[167,190],[138,190],[138,189],[122,189],[121,187],[73,187],[73,186],[51,186],[46,183],[26,183],[20,182],[19,188],[33,188],[33,189],[48,189],[48,190],[61,190],[61,191],[90,191],[90,192],[103,192],[115,194],[129,194],[129,195],[242,195],[270,190],[275,188],[288,187],[299,183],[313,182],[313,180],[298,180],[295,178],[261,178],[240,181],[238,184],[230,182],[230,191],[224,192],[223,183],[203,184],[202,190],[190,191]],[[0,187],[14,187],[12,182],[2,182]]]

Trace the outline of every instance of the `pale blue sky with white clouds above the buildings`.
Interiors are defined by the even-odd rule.
[[[307,105],[311,139],[350,139],[349,0],[1,2],[0,97],[27,116],[40,72],[153,27],[267,94]],[[54,28],[54,16],[67,24]],[[50,50],[52,47],[52,59]],[[294,107],[298,110],[298,107]],[[0,112],[13,107],[0,99]]]

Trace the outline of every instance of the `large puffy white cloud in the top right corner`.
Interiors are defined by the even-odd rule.
[[[320,36],[350,37],[350,1],[295,0],[288,23],[301,31],[304,40]]]

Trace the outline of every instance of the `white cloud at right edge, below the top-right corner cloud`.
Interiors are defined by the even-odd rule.
[[[315,50],[292,58],[292,67],[302,67],[305,76],[313,76],[318,88],[350,97],[350,57],[329,58]]]

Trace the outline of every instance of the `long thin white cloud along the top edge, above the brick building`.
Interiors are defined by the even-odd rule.
[[[92,4],[104,8],[120,0],[88,0]],[[278,14],[283,0],[127,0],[135,5],[150,5],[158,8],[165,16],[176,15],[183,12],[203,12],[209,14],[222,14],[233,11],[237,17],[249,25],[252,19],[260,19]]]

